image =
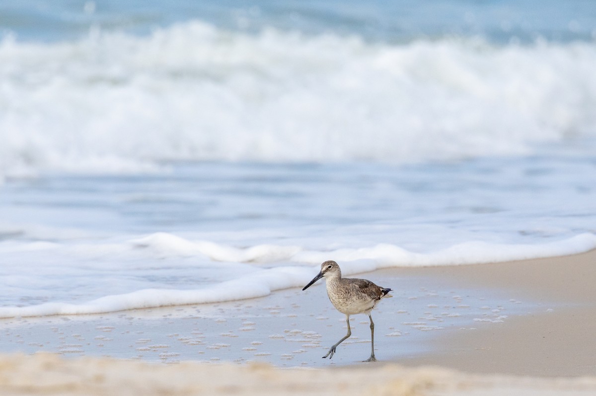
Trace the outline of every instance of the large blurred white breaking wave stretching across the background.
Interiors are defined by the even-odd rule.
[[[411,162],[596,133],[593,42],[369,43],[198,21],[0,43],[0,175],[168,159]]]

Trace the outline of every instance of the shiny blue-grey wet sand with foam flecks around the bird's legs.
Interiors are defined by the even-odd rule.
[[[373,312],[377,359],[401,362],[434,350],[439,334],[476,331],[542,309],[488,288],[446,285],[400,271],[362,274],[392,287]],[[346,334],[324,282],[306,291],[217,304],[139,309],[103,315],[0,319],[0,353],[44,351],[69,357],[110,356],[147,362],[263,362],[280,367],[359,364],[370,356],[366,315],[350,318],[352,337],[333,359],[321,359]],[[464,329],[464,330],[461,330]]]

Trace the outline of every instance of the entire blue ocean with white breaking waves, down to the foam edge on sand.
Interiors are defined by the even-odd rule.
[[[596,247],[591,1],[0,1],[0,317]]]

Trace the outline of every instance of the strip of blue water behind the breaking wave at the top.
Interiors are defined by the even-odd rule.
[[[491,42],[594,40],[590,0],[535,1],[1,1],[0,26],[19,39],[72,40],[91,29],[148,34],[188,20],[232,30],[263,27],[405,42],[479,35]]]

